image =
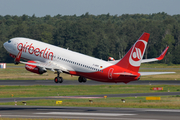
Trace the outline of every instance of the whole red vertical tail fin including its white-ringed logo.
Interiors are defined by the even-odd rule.
[[[143,33],[126,55],[116,64],[122,68],[138,72],[143,58],[149,33]]]

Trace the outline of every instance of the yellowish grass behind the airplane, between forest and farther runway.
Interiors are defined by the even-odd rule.
[[[24,68],[24,64],[14,65],[13,63],[8,63],[7,66],[8,68],[6,69],[0,69],[0,80],[53,80],[54,77],[56,76],[56,74],[54,74],[52,71],[48,71],[43,75],[31,73]],[[143,69],[143,68],[151,68],[151,69]],[[180,65],[142,64],[140,71],[141,72],[176,72],[175,74],[142,76],[140,80],[175,80],[175,79],[180,80]],[[66,80],[78,79],[77,76],[72,77],[71,75],[63,74],[63,73],[61,74],[61,76]]]

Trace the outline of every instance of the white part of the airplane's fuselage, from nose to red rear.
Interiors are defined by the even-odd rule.
[[[9,53],[17,55],[23,49],[22,58],[41,62],[52,61],[68,71],[89,73],[100,71],[113,65],[104,60],[29,38],[18,37],[10,41],[10,43],[5,43],[7,45],[4,45]]]

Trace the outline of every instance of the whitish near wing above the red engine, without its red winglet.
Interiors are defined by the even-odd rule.
[[[59,71],[59,72],[62,72],[62,71],[64,71],[64,72],[69,72],[65,67],[60,66],[59,64],[54,63],[54,62],[52,62],[52,61],[48,61],[48,62],[34,61],[34,63],[20,61],[20,63],[29,64],[29,65],[35,65],[35,66],[41,67],[41,68],[43,68],[43,69],[51,70],[51,71],[53,71],[53,72],[55,72],[55,71]]]

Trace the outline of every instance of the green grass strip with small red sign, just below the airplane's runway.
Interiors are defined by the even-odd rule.
[[[150,90],[151,87],[163,87],[162,91]],[[0,98],[47,97],[47,96],[83,96],[126,93],[179,92],[178,85],[63,85],[63,86],[0,86]]]

